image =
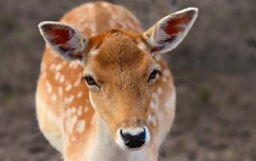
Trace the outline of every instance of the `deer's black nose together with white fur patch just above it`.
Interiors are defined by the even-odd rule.
[[[120,135],[125,142],[125,146],[129,148],[142,147],[146,141],[146,129],[121,129]]]

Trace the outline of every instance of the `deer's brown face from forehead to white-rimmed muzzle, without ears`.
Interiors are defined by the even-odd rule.
[[[93,41],[93,40],[92,40]],[[87,54],[84,80],[90,101],[120,147],[143,147],[150,139],[146,126],[151,88],[160,66],[146,51],[140,36],[110,32]]]

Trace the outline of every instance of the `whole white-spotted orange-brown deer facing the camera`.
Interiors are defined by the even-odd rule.
[[[193,26],[197,8],[147,31],[122,6],[84,3],[43,21],[38,126],[65,161],[156,161],[172,127],[176,90],[162,54]]]

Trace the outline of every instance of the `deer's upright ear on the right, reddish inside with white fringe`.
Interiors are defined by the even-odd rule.
[[[151,52],[160,54],[175,49],[193,26],[198,14],[197,8],[180,10],[167,15],[143,33]]]

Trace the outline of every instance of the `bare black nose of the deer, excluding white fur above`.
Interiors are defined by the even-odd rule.
[[[137,134],[137,135],[131,135],[129,132],[123,132],[121,129],[121,136],[123,140],[125,141],[125,146],[130,148],[136,148],[136,147],[142,147],[145,143],[146,138],[146,132],[143,128],[143,132]]]

